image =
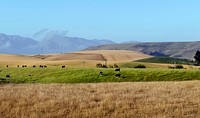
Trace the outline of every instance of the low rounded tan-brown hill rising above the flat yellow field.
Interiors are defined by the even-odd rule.
[[[151,56],[128,50],[91,50],[64,54],[34,55],[33,57],[42,58],[47,61],[61,60],[99,60],[99,61],[133,61],[149,58]]]

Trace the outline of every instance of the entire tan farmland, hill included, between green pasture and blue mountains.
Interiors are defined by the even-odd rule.
[[[42,55],[11,55],[0,54],[0,66],[17,65],[67,65],[67,67],[96,67],[97,63],[108,64],[130,62],[151,56],[134,51],[126,50],[98,50],[80,51],[64,54],[42,54]],[[84,62],[84,65],[83,65]]]

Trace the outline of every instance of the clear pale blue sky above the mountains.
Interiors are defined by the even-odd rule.
[[[1,0],[0,33],[115,42],[200,41],[200,0]]]

